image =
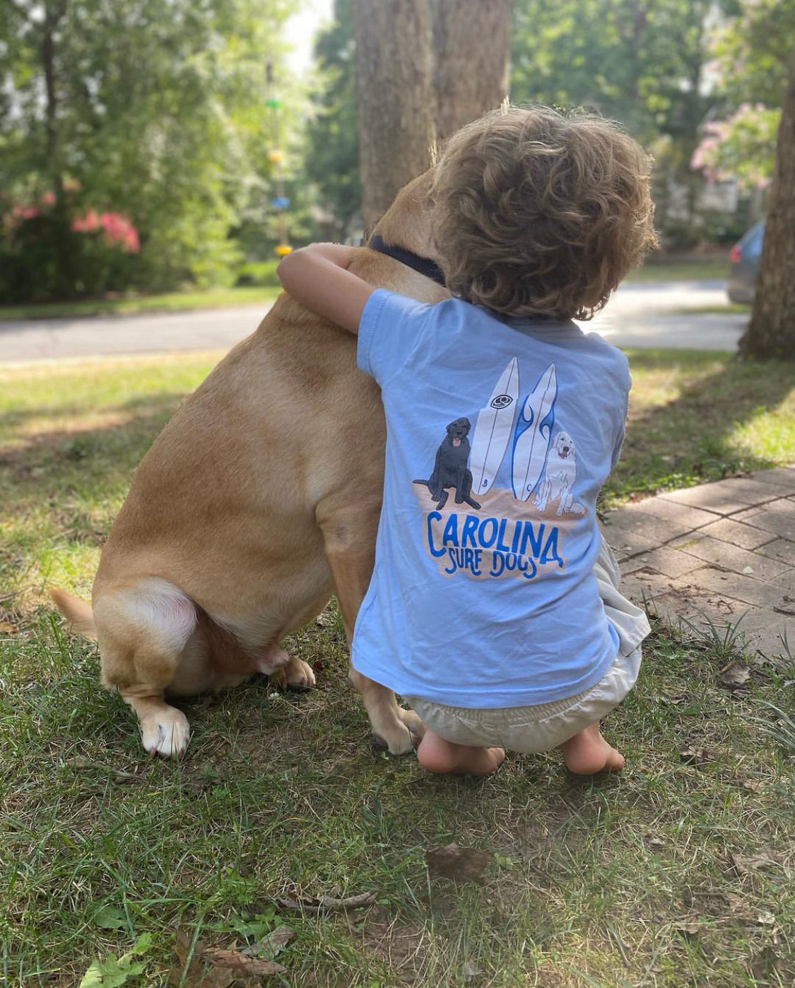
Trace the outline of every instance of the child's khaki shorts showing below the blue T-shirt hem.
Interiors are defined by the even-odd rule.
[[[498,746],[530,755],[557,748],[618,706],[635,685],[640,660],[640,646],[629,655],[619,653],[607,674],[590,690],[534,706],[470,709],[419,697],[404,699],[426,727],[447,741]]]

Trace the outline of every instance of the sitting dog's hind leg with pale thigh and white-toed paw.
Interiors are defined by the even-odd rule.
[[[193,602],[165,580],[145,579],[129,588],[98,594],[94,619],[103,685],[117,689],[138,716],[141,742],[150,755],[179,757],[188,746],[188,718],[164,699],[178,679],[187,648],[201,650]],[[199,662],[201,673],[204,663]],[[199,679],[201,677],[199,676]],[[196,683],[189,691],[200,693]]]

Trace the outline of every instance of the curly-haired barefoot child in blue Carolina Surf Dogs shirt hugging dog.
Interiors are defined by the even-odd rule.
[[[505,750],[619,770],[599,720],[632,689],[649,625],[618,593],[596,495],[618,457],[624,355],[588,319],[654,245],[649,160],[617,124],[534,107],[469,124],[435,169],[453,298],[373,289],[351,248],[281,261],[303,305],[358,333],[387,422],[375,568],[352,662],[401,694],[432,772]]]

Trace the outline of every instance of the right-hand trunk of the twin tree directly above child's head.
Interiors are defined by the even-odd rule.
[[[508,96],[513,0],[436,0],[437,140]]]

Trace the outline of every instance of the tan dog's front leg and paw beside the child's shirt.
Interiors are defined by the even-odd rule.
[[[328,517],[319,514],[326,558],[343,613],[349,648],[358,609],[372,575],[379,514],[377,503],[369,510],[359,503],[355,508],[347,506]],[[386,743],[390,754],[405,755],[412,751],[414,739],[425,732],[423,722],[414,710],[403,709],[391,690],[373,683],[353,666],[348,676],[364,703],[373,733]]]

